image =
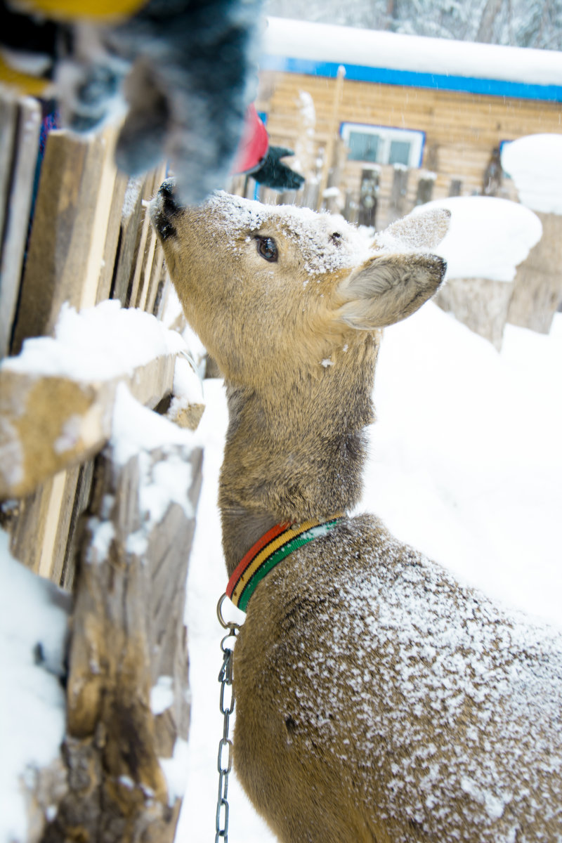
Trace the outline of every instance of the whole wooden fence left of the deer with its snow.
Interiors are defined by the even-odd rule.
[[[54,131],[34,196],[40,123],[34,100],[0,93],[0,568],[19,560],[72,605],[66,690],[51,675],[58,695],[28,698],[55,672],[57,598],[3,576],[19,614],[0,633],[13,676],[0,839],[173,840],[202,399],[181,314],[174,331],[162,321],[171,293],[145,207],[165,174],[117,172],[111,130]],[[66,722],[62,747],[52,722]]]

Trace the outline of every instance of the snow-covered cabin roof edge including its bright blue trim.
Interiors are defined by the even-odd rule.
[[[269,18],[260,66],[418,87],[562,99],[558,51]]]

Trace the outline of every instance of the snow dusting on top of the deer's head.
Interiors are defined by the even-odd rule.
[[[243,253],[254,233],[276,237],[285,231],[298,239],[303,268],[311,277],[358,266],[372,256],[361,232],[343,217],[328,212],[295,205],[262,205],[222,191],[211,196],[209,207],[215,214],[213,228],[230,237],[235,255]]]

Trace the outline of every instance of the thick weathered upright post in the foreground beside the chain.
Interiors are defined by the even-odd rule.
[[[166,463],[182,472],[185,492],[179,500],[176,486],[155,513],[140,490],[162,483]],[[201,451],[143,448],[123,463],[110,447],[96,476],[72,622],[69,792],[44,840],[171,843],[181,797],[169,792],[159,759],[188,736],[183,584]],[[164,703],[154,703],[154,689]]]

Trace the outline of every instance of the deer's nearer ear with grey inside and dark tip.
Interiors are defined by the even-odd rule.
[[[378,255],[340,286],[340,319],[357,330],[393,325],[413,314],[440,286],[447,264],[437,255]]]

